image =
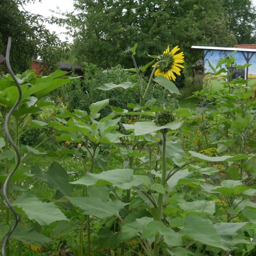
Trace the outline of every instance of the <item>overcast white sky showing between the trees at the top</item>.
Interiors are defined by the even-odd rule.
[[[256,0],[252,0],[253,4],[256,6]],[[41,3],[37,1],[34,4],[28,4],[25,6],[25,9],[29,12],[42,15],[44,17],[52,16],[52,12],[50,9],[57,10],[57,7],[64,12],[66,10],[73,11],[73,0],[42,0]],[[46,24],[47,29],[50,31],[55,31],[61,40],[65,40],[66,35],[61,34],[61,32],[65,32],[65,28],[58,27],[56,25]],[[72,41],[72,39],[69,39]]]

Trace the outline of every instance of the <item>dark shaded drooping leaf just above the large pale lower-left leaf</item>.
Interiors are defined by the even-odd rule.
[[[71,196],[72,187],[66,170],[56,162],[53,162],[47,172],[42,172],[38,166],[31,168],[35,178],[47,181],[51,189],[58,189],[63,195]]]

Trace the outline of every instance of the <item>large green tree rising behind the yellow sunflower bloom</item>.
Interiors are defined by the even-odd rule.
[[[140,65],[148,61],[147,53],[161,53],[167,44],[180,45],[187,62],[198,58],[198,53],[191,51],[193,44],[236,44],[218,0],[74,2],[76,14],[67,13],[66,22],[75,39],[73,52],[79,64],[87,61],[104,68],[118,63],[130,67],[124,49],[135,43],[139,44]]]

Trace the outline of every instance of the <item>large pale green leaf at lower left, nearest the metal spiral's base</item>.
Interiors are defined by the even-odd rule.
[[[21,194],[12,205],[15,206],[17,212],[25,213],[29,219],[34,219],[41,225],[48,225],[54,221],[68,221],[54,203],[44,203],[31,192]]]

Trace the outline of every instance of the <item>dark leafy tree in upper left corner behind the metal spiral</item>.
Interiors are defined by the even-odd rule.
[[[43,66],[56,69],[62,43],[43,25],[44,17],[22,9],[34,0],[0,0],[0,54],[5,55],[8,37],[12,37],[10,61],[16,73],[31,67],[34,55],[40,55]]]

